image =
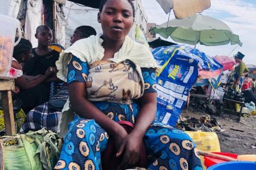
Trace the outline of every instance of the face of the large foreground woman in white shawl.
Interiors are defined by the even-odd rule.
[[[98,14],[103,35],[120,41],[129,33],[133,23],[132,5],[127,0],[108,0]]]

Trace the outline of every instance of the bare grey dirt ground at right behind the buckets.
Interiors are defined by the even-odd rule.
[[[184,109],[181,116],[200,118],[205,113],[193,112],[190,107]],[[256,154],[256,116],[241,117],[240,122],[232,115],[211,115],[221,123],[222,132],[216,132],[221,146],[221,152],[233,154]]]

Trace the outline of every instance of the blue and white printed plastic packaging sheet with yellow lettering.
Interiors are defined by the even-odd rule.
[[[182,48],[182,47],[181,47]],[[152,51],[157,71],[157,120],[174,126],[198,77],[198,61],[179,53],[179,46]]]

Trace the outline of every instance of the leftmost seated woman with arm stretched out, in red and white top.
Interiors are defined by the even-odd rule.
[[[18,38],[16,38],[15,41],[17,41],[17,39]],[[31,89],[38,86],[38,84],[44,83],[44,81],[54,73],[53,70],[49,68],[44,75],[23,75],[22,66],[29,60],[31,51],[32,44],[29,40],[23,38],[21,38],[21,41],[13,49],[12,68],[10,69],[8,77],[15,78],[15,90],[13,90],[15,96],[20,92],[20,90]],[[24,114],[22,109],[15,112],[17,132],[20,131],[21,124],[23,124],[25,117],[26,114]],[[4,132],[4,116],[2,110],[0,110],[0,132]]]

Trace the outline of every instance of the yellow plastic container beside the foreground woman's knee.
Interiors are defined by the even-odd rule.
[[[221,152],[221,147],[219,146],[219,138],[215,132],[186,131],[186,133],[193,139],[194,143],[196,143],[197,149],[207,152]],[[202,166],[204,169],[206,169],[204,166],[204,157],[200,157]]]

